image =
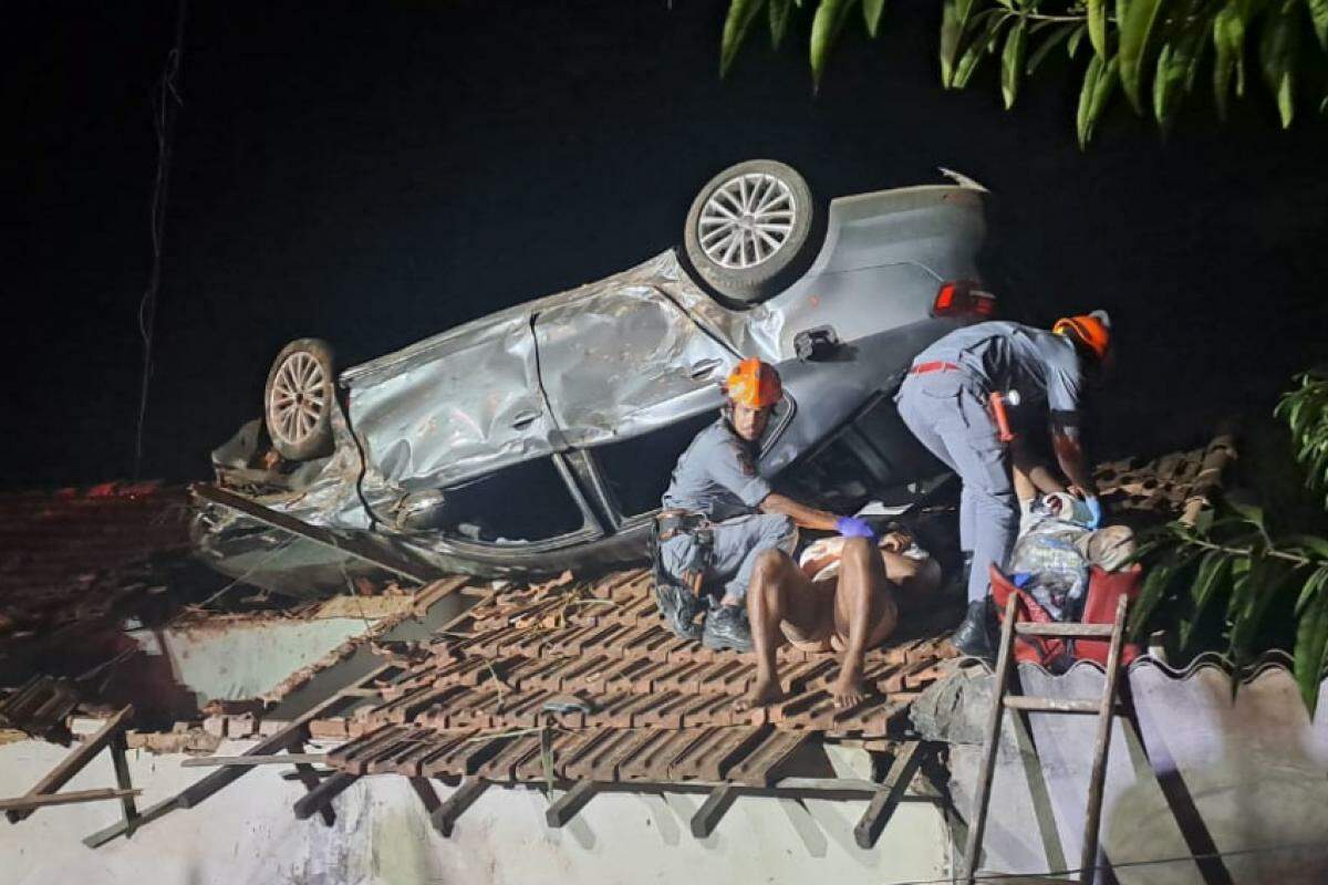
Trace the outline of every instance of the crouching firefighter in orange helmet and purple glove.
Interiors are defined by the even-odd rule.
[[[710,649],[752,647],[746,592],[762,551],[793,553],[798,527],[872,537],[871,527],[781,495],[757,471],[761,434],[784,398],[780,374],[744,360],[724,383],[720,419],[677,460],[655,521],[655,592],[660,613],[683,637]],[[705,590],[720,600],[706,610]],[[697,616],[704,616],[704,628]]]

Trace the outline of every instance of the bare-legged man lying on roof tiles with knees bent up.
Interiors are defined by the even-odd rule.
[[[837,707],[866,698],[867,649],[894,632],[902,608],[940,585],[935,560],[904,556],[911,539],[903,532],[891,532],[878,544],[866,537],[826,539],[809,548],[802,565],[784,551],[761,552],[748,590],[757,678],[740,709],[784,698],[776,651],[785,640],[803,650],[843,653],[839,678],[830,689]]]

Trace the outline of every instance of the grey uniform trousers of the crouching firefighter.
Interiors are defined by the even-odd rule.
[[[705,569],[705,582],[724,581],[724,594],[745,600],[752,569],[761,551],[781,549],[793,555],[798,543],[798,528],[788,516],[753,513],[734,516],[709,527],[712,536],[710,561]],[[676,535],[660,544],[660,565],[676,579],[692,568],[697,557],[697,541],[692,535]]]

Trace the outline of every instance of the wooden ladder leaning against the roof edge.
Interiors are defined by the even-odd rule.
[[[996,770],[996,750],[1000,746],[1000,728],[1005,710],[1028,713],[1096,713],[1097,742],[1093,747],[1093,772],[1088,788],[1088,819],[1084,823],[1084,853],[1080,858],[1080,881],[1092,882],[1097,865],[1098,828],[1102,819],[1102,787],[1106,782],[1106,751],[1112,743],[1112,713],[1116,707],[1116,679],[1121,663],[1121,645],[1125,638],[1125,609],[1127,600],[1121,596],[1116,605],[1116,620],[1112,624],[1035,624],[1015,622],[1019,594],[1011,593],[1005,604],[1005,620],[1000,632],[1000,650],[996,655],[996,690],[992,695],[991,711],[987,718],[985,743],[983,744],[983,764],[977,774],[977,795],[973,799],[973,821],[968,828],[968,847],[964,851],[964,882],[973,885],[977,876],[977,854],[983,847],[983,829],[987,825],[987,808],[992,797],[992,778]],[[1102,697],[1092,698],[1029,698],[1005,695],[1009,677],[1013,671],[1015,637],[1073,637],[1110,640],[1106,655],[1106,683]]]

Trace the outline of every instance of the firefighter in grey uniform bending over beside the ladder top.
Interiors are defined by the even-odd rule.
[[[965,654],[992,654],[988,567],[1004,568],[1019,527],[1009,455],[997,429],[1004,418],[999,402],[993,410],[992,394],[1008,398],[1013,390],[1021,406],[1045,403],[1056,460],[1100,521],[1102,508],[1080,441],[1080,401],[1086,372],[1102,364],[1109,344],[1104,310],[1065,317],[1050,332],[979,322],[918,354],[899,389],[899,417],[964,484],[959,543],[968,571],[968,613],[954,642]]]

